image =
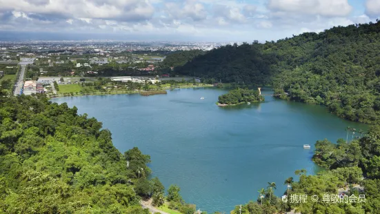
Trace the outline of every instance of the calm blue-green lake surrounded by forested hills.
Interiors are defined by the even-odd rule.
[[[347,126],[367,126],[336,117],[322,106],[266,96],[266,101],[228,108],[215,102],[226,90],[183,88],[167,95],[103,95],[52,99],[77,106],[103,122],[121,153],[137,146],[150,155],[152,176],[181,187],[186,202],[202,211],[226,211],[257,200],[260,188],[283,182],[311,161],[314,143],[346,139]],[[268,93],[263,91],[263,93]],[[205,97],[205,99],[200,99]],[[311,149],[303,149],[310,144]]]

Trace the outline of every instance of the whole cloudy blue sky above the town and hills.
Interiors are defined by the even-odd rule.
[[[0,37],[271,41],[379,17],[380,0],[0,0]]]

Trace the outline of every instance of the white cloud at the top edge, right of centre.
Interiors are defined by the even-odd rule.
[[[274,11],[319,14],[326,17],[344,17],[352,11],[348,0],[269,0],[268,8]]]

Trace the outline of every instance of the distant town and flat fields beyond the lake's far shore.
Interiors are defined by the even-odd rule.
[[[174,52],[203,52],[226,44],[0,41],[0,86],[10,95],[50,97],[199,86],[197,77],[170,75],[174,67],[164,65],[164,59]]]

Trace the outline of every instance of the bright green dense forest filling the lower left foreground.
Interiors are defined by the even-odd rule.
[[[43,95],[0,91],[0,213],[146,213],[165,201],[149,155],[121,154],[101,122]],[[194,211],[180,198],[174,208]],[[174,205],[173,205],[174,206]]]

